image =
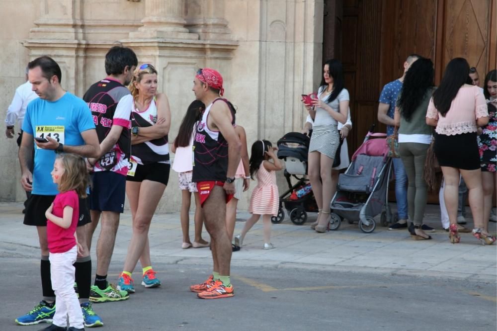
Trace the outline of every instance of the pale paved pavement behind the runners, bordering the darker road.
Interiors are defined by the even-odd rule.
[[[20,203],[0,203],[0,257],[39,256],[36,229],[22,225],[21,209]],[[237,217],[241,220],[248,216],[247,212],[240,212]],[[438,218],[438,206],[428,205],[425,223],[442,229]],[[314,220],[315,216],[311,214],[308,224]],[[467,227],[471,228],[471,219],[468,221]],[[272,226],[271,242],[276,248],[262,250],[262,224],[259,221],[248,233],[244,248],[233,254],[232,264],[355,272],[367,269],[367,272],[376,273],[485,282],[496,282],[497,279],[497,245],[483,246],[471,234],[461,234],[461,243],[453,245],[443,230],[430,234],[433,240],[413,241],[407,230],[388,231],[378,225],[372,234],[364,234],[357,224],[343,222],[338,231],[318,234],[310,230],[308,224],[297,226],[287,217],[283,223]],[[242,227],[243,222],[237,222],[235,234]],[[190,230],[192,228],[193,225]],[[131,231],[131,215],[125,213],[121,217],[113,260],[124,261]],[[496,223],[490,223],[490,231],[496,232]],[[156,215],[150,228],[153,260],[203,264],[210,259],[207,248],[182,249],[181,238],[178,213]],[[209,239],[207,233],[204,238]],[[95,256],[94,248],[92,256]]]

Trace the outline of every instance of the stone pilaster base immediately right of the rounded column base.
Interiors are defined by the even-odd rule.
[[[228,21],[224,18],[225,1],[187,0],[186,27],[203,40],[231,39]]]

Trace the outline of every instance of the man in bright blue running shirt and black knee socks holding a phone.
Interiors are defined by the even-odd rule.
[[[45,217],[45,211],[59,193],[50,175],[55,154],[74,153],[92,158],[100,153],[91,112],[82,99],[62,89],[59,65],[50,57],[42,56],[30,62],[28,69],[29,82],[39,98],[31,101],[26,109],[19,147],[19,162],[22,187],[26,191],[31,191],[26,205],[24,224],[37,227],[40,241],[43,299],[33,310],[15,320],[20,325],[50,322],[55,313],[55,293],[50,279]],[[36,145],[34,160],[33,144]],[[33,172],[29,170],[31,165]],[[79,257],[75,263],[76,282],[79,285],[85,326],[99,326],[102,325],[101,320],[91,310],[88,302],[91,261],[83,225],[89,223],[90,218],[84,200],[80,202],[79,212],[77,236],[79,244],[83,247],[83,257]]]

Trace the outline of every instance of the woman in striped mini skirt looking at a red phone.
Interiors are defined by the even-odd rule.
[[[311,98],[311,104],[304,99],[302,102],[314,118],[308,175],[319,214],[311,229],[324,233],[328,227],[332,198],[331,167],[340,143],[337,124],[345,124],[348,115],[349,94],[344,88],[340,61],[332,59],[325,62],[317,98]]]

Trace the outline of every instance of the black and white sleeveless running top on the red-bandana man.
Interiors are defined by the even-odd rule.
[[[193,174],[192,181],[226,180],[228,171],[228,142],[221,132],[210,130],[207,118],[214,102],[228,100],[217,98],[207,106],[198,122],[193,142]],[[230,106],[232,124],[235,125],[235,114]]]

